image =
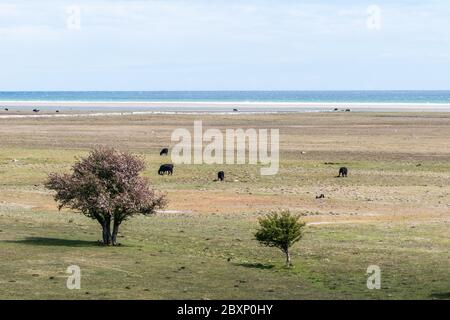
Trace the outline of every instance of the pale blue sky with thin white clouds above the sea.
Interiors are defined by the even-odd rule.
[[[0,91],[446,90],[450,1],[0,0]]]

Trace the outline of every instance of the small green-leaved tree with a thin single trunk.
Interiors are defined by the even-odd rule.
[[[255,233],[256,240],[261,244],[283,251],[287,267],[291,266],[289,248],[303,236],[305,223],[299,219],[300,216],[291,214],[289,210],[271,212],[259,218],[260,228]]]

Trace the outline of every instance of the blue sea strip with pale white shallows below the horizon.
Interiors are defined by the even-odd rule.
[[[27,107],[17,103],[28,102]],[[450,90],[436,91],[0,91],[0,110],[2,104],[15,103],[13,110],[26,110],[30,102],[39,103],[40,109],[52,111],[83,110],[96,111],[230,111],[230,104],[245,105],[248,112],[258,111],[317,111],[317,104],[417,104],[436,107],[450,105]],[[45,106],[51,102],[51,106]],[[67,102],[81,102],[83,106],[64,106]],[[142,104],[153,102],[152,106]],[[58,105],[61,103],[61,106]],[[90,105],[89,103],[92,103]],[[98,106],[102,103],[102,106]],[[106,104],[105,104],[106,103]],[[109,107],[108,103],[111,103]],[[126,105],[120,105],[126,103]],[[161,103],[161,106],[158,106]],[[174,105],[171,106],[170,104]],[[186,103],[186,105],[183,105]],[[198,103],[198,105],[196,105]],[[286,105],[302,103],[298,110]],[[142,105],[140,105],[142,104]],[[221,104],[224,104],[221,107]],[[323,110],[323,108],[321,109]],[[391,109],[392,110],[392,107]]]

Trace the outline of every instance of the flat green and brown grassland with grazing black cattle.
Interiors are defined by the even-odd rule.
[[[279,173],[177,165],[158,176],[170,161],[159,149],[194,120],[279,128]],[[0,298],[450,298],[450,114],[0,119],[0,135]],[[98,246],[99,226],[58,212],[43,188],[98,145],[142,154],[170,200],[165,213],[126,221],[121,247]],[[343,165],[349,177],[336,178]],[[258,216],[278,208],[308,223],[292,269],[252,239]],[[81,290],[66,288],[73,264]],[[381,290],[366,288],[372,264]]]

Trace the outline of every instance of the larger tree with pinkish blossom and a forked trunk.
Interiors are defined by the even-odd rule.
[[[123,221],[136,214],[154,214],[166,205],[165,196],[139,175],[144,168],[137,156],[99,148],[76,162],[70,174],[50,174],[45,186],[56,191],[59,209],[67,207],[97,220],[103,244],[115,246]]]

